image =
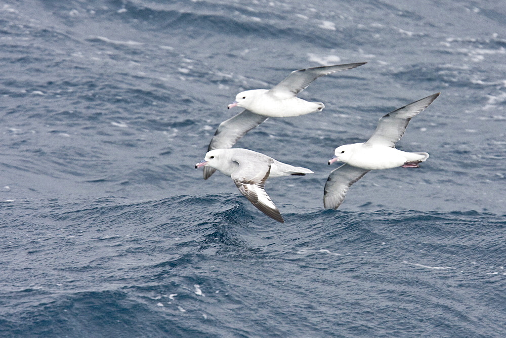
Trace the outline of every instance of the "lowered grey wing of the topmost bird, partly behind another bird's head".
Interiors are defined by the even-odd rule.
[[[220,123],[209,143],[209,147],[207,147],[207,151],[232,148],[237,140],[266,119],[267,116],[243,110],[241,113]],[[204,166],[204,180],[207,180],[214,172],[216,172],[215,168]]]

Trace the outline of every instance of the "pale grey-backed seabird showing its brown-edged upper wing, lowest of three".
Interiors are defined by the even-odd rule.
[[[265,181],[271,177],[313,174],[309,169],[282,163],[256,151],[233,148],[207,152],[202,162],[195,164],[212,167],[234,180],[239,191],[261,212],[284,223],[279,209],[265,192]]]

